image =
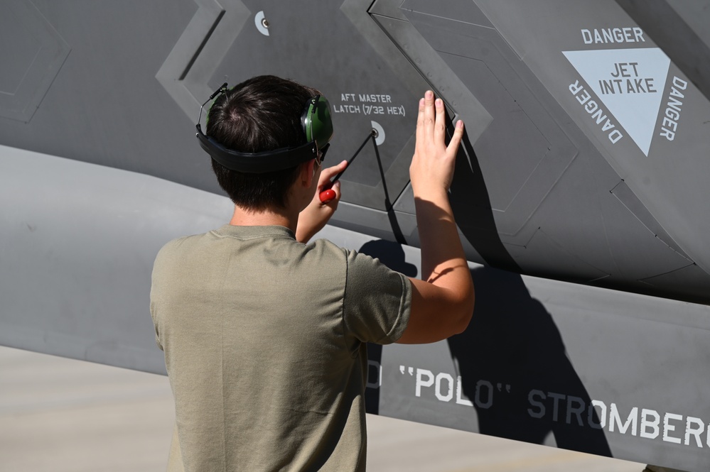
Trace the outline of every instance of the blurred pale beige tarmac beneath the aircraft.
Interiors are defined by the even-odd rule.
[[[165,471],[168,378],[0,346],[0,471]],[[645,464],[367,415],[375,472],[642,472]]]

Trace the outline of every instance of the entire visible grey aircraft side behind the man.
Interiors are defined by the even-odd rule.
[[[380,130],[323,236],[416,275],[408,165],[432,88],[467,126],[451,202],[476,317],[448,343],[373,348],[369,407],[706,470],[706,6],[8,0],[0,343],[164,371],[154,255],[230,215],[198,104],[263,73],[329,97],[333,162]]]

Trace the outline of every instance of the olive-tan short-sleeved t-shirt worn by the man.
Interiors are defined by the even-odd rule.
[[[166,244],[151,315],[176,408],[170,471],[362,471],[367,342],[397,341],[412,287],[283,226]]]

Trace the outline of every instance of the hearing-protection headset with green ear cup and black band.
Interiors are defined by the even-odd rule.
[[[306,163],[308,160],[320,158],[323,160],[328,150],[328,143],[333,137],[333,122],[330,121],[330,104],[323,95],[316,95],[306,102],[301,114],[301,125],[303,133],[306,135],[306,144],[293,148],[279,148],[267,150],[261,153],[240,153],[227,149],[222,144],[217,143],[210,136],[202,132],[200,121],[202,112],[208,101],[217,95],[227,93],[227,82],[217,89],[210,98],[200,106],[200,117],[198,118],[197,136],[200,146],[210,155],[211,158],[225,166],[227,169],[237,170],[247,173],[274,172],[294,168],[296,165]]]

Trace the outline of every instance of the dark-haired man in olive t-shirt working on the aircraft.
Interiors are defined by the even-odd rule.
[[[262,76],[224,89],[209,111],[203,147],[234,214],[163,246],[151,287],[176,408],[168,471],[364,471],[367,342],[429,343],[468,326],[473,282],[448,202],[463,123],[446,146],[443,102],[419,101],[412,279],[308,243],[339,182],[330,201],[318,194],[347,165],[323,168],[330,136],[308,136],[321,97]]]

